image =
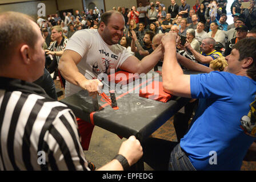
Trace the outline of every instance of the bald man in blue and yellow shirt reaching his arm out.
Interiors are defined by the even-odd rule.
[[[201,53],[198,53],[191,47],[190,43],[185,44],[185,48],[189,50],[194,56],[195,60],[199,63],[209,67],[209,64],[212,60],[217,59],[218,57],[223,57],[222,54],[215,50],[216,42],[213,38],[205,38],[202,40],[201,44]]]

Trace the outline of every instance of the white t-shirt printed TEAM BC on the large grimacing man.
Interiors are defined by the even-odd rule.
[[[107,45],[97,29],[83,29],[75,32],[69,39],[65,50],[72,50],[81,55],[77,64],[79,72],[87,79],[92,79],[100,73],[110,73],[110,69],[118,69],[125,60],[132,56],[125,47],[119,44]],[[82,88],[66,81],[65,97],[77,93]]]

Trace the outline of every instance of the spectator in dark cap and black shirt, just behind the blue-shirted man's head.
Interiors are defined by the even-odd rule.
[[[233,46],[242,39],[246,38],[247,32],[248,32],[248,28],[245,25],[239,26],[237,28],[235,28],[236,33],[235,33],[235,38],[231,39],[229,43],[226,44],[226,48],[225,48],[225,52],[224,55],[228,56],[230,55]]]

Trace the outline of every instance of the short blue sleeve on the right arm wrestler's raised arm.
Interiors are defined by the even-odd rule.
[[[190,75],[192,98],[225,98],[234,94],[233,76],[227,72]]]

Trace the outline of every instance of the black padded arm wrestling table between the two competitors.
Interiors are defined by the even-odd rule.
[[[158,73],[150,71],[153,77],[148,77],[146,81],[139,78],[139,82],[134,81],[133,89],[127,89],[125,93],[115,93],[118,110],[114,110],[107,102],[103,102],[98,97],[99,110],[93,110],[93,102],[86,90],[81,90],[69,97],[61,100],[73,110],[76,117],[93,125],[129,138],[134,135],[139,141],[149,137],[159,127],[161,127],[170,117],[190,101],[190,98],[172,97],[166,103],[139,97],[134,90],[141,89],[152,80],[162,81]],[[147,76],[149,75],[147,74]],[[185,71],[185,74],[198,74],[201,72]],[[107,95],[110,95],[109,93]],[[143,170],[143,162],[139,160],[135,164],[135,169]]]

